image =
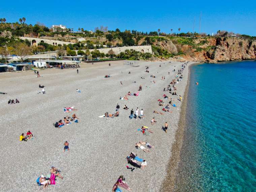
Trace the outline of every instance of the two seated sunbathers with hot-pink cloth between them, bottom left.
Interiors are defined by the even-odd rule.
[[[46,189],[49,185],[55,185],[56,177],[63,179],[60,172],[61,171],[59,169],[57,169],[54,166],[51,166],[50,174],[46,175],[47,177],[44,177],[44,175],[41,175],[40,177],[37,178],[36,180],[37,185],[38,186],[43,185],[43,189]]]

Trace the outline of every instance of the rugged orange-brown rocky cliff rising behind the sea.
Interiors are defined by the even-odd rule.
[[[177,39],[174,41],[177,41]],[[190,39],[190,41],[186,41],[186,38],[184,38],[182,43],[175,42],[173,44],[171,40],[161,40],[153,44],[170,53],[177,53],[178,48],[178,51],[182,51],[185,54],[176,56],[174,59],[183,58],[188,61],[211,63],[256,59],[256,41],[239,37],[207,37]]]

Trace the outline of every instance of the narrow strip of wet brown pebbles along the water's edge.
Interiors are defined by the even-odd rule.
[[[188,79],[187,85],[185,88],[184,96],[183,96],[183,103],[181,106],[181,113],[179,117],[179,124],[178,129],[175,132],[175,141],[171,147],[171,158],[169,159],[167,170],[166,170],[166,177],[162,183],[161,191],[163,192],[170,192],[175,191],[175,181],[177,179],[177,172],[179,163],[181,160],[181,150],[184,142],[184,131],[187,125],[186,121],[186,113],[187,113],[187,99],[188,99],[188,91],[189,91],[189,84],[190,84],[190,67],[194,64],[192,63],[188,66]]]

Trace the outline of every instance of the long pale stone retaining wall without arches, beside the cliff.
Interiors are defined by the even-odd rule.
[[[105,48],[105,49],[97,49],[100,51],[100,53],[104,53],[107,54],[109,52],[109,50],[113,50],[115,52],[115,54],[119,54],[120,52],[125,52],[125,50],[135,50],[135,51],[139,51],[141,53],[152,53],[152,48],[151,45],[144,45],[144,46],[127,46],[127,47],[112,47],[112,48]],[[95,51],[96,49],[91,49],[91,51]],[[84,52],[86,50],[83,50]],[[76,51],[77,52],[77,51]]]

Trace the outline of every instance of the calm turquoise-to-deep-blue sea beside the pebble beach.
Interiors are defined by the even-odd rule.
[[[192,66],[187,117],[177,189],[256,191],[256,61]]]

